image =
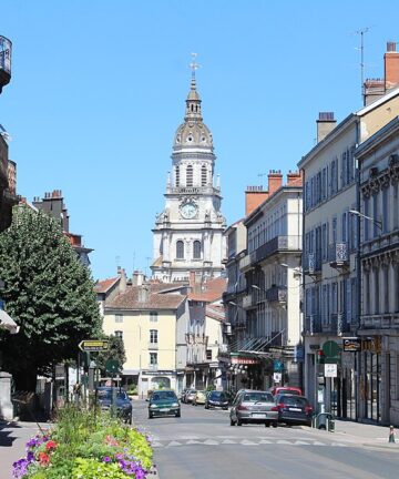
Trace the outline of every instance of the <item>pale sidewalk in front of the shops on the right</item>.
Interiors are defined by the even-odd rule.
[[[321,431],[320,431],[321,432]],[[325,431],[323,431],[325,432]],[[395,444],[389,442],[389,427],[336,419],[335,435],[359,446],[395,448],[399,450],[399,429],[395,429]]]

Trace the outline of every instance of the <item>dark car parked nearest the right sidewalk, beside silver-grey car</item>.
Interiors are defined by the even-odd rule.
[[[278,395],[276,396],[276,407],[279,422],[311,426],[313,408],[305,396]]]

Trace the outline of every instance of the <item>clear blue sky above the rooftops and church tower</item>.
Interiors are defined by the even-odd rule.
[[[146,271],[164,207],[172,141],[190,89],[190,53],[214,136],[227,223],[259,174],[296,167],[319,111],[361,106],[365,75],[383,74],[399,7],[375,1],[1,0],[13,42],[0,123],[12,136],[18,192],[62,190],[94,278]]]

